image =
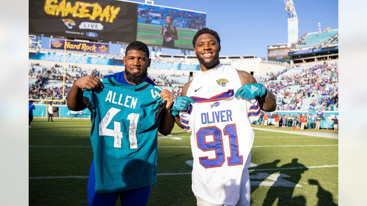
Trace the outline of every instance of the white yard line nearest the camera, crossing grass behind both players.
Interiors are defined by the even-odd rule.
[[[250,171],[266,171],[266,170],[289,170],[289,169],[310,169],[310,168],[331,168],[338,167],[339,165],[322,165],[322,166],[310,166],[310,167],[299,167],[299,168],[278,168],[278,169],[252,169]],[[157,176],[167,176],[167,175],[182,175],[182,174],[191,174],[191,172],[186,173],[158,173]],[[50,176],[50,177],[29,177],[29,179],[68,179],[68,178],[88,178],[88,176]]]

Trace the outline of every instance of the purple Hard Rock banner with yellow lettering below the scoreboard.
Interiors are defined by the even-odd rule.
[[[108,44],[98,44],[98,43],[87,43],[87,42],[79,42],[79,41],[69,41],[62,39],[51,39],[51,49],[65,49],[73,50],[73,51],[83,51],[83,52],[92,52],[92,53],[100,53],[100,54],[109,54],[109,45]]]

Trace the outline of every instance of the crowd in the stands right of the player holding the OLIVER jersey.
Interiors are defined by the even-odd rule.
[[[292,69],[297,70],[299,67],[295,66],[290,70]],[[338,106],[337,84],[339,72],[337,64],[327,65],[324,63],[302,69],[299,73],[282,76],[283,73],[270,73],[260,80],[266,88],[275,94],[277,110],[299,110],[306,98],[326,95],[333,95],[333,98],[327,98],[320,102],[323,110],[326,108],[334,110],[334,106]],[[290,87],[292,85],[298,85],[299,87],[292,91]],[[310,110],[315,110],[316,100],[310,99],[309,104]],[[311,106],[313,106],[313,109]]]

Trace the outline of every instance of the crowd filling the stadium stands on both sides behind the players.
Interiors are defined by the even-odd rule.
[[[60,66],[55,65],[51,69],[46,67],[34,69],[33,66],[40,66],[38,63],[30,66],[29,98],[62,99],[63,75],[60,70],[56,69]],[[277,72],[257,76],[256,79],[275,94],[277,110],[300,110],[301,108],[309,111],[316,111],[317,109],[336,110],[338,107],[338,65],[328,65],[324,62],[305,69],[301,68],[299,65],[294,65]],[[89,74],[96,77],[100,76],[100,71],[97,69],[88,73],[76,65],[69,65],[68,71],[65,73],[65,96],[77,78]],[[169,90],[174,94],[174,98],[181,95],[183,82],[179,82],[177,78],[172,77],[182,76],[187,77],[188,81],[188,76],[184,74],[148,75],[158,86],[169,87]],[[49,80],[58,80],[59,84],[52,84]],[[323,96],[326,97],[323,98]]]

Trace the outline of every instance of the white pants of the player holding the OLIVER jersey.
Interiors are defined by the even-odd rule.
[[[248,169],[244,169],[241,177],[241,187],[240,187],[240,199],[237,204],[234,205],[224,205],[224,206],[250,206],[250,175],[248,174]],[[196,196],[196,195],[195,195]],[[196,196],[197,206],[222,206],[223,204],[213,204],[203,198]]]

